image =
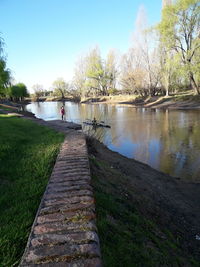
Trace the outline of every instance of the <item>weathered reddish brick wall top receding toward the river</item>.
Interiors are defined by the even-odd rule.
[[[101,266],[85,137],[62,145],[20,266]]]

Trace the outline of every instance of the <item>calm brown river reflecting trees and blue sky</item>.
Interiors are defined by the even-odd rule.
[[[62,102],[35,102],[28,111],[44,120],[60,119]],[[111,104],[65,102],[67,121],[104,121],[111,128],[83,130],[109,149],[175,177],[200,182],[200,110],[151,110]]]

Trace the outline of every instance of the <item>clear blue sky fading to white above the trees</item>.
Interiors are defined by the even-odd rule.
[[[79,55],[99,45],[126,52],[138,9],[150,25],[160,20],[161,0],[0,0],[0,32],[16,82],[42,84],[73,75]]]

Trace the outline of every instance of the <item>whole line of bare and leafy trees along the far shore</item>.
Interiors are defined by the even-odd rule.
[[[132,46],[107,58],[94,47],[76,63],[71,82],[58,78],[50,90],[33,86],[32,98],[96,97],[116,94],[169,95],[179,91],[200,94],[200,5],[198,0],[178,0],[162,10],[161,22],[145,24],[140,10]],[[0,97],[19,100],[27,96],[24,84],[12,85],[0,39]]]

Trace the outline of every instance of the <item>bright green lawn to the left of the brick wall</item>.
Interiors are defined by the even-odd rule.
[[[16,266],[51,174],[63,134],[0,116],[0,266]]]

